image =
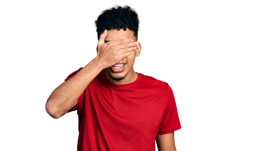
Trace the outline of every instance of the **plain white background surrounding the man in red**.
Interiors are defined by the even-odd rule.
[[[101,11],[128,4],[140,16],[134,70],[174,91],[177,150],[256,151],[254,2],[1,0],[0,150],[76,150],[76,111],[56,120],[45,103],[96,57]]]

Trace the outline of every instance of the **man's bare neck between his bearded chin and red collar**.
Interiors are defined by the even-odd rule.
[[[128,84],[133,83],[135,80],[137,80],[138,74],[134,71],[134,68],[131,69],[131,71],[128,72],[126,77],[120,81],[113,80],[111,76],[106,72],[106,76],[108,77],[108,80],[111,83],[114,84]]]

